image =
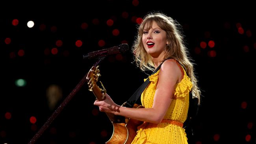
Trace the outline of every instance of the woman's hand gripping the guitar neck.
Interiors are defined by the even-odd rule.
[[[119,112],[120,105],[115,104],[107,93],[105,94],[105,97],[106,99],[103,101],[95,100],[94,105],[97,105],[101,112],[106,112],[106,113]]]

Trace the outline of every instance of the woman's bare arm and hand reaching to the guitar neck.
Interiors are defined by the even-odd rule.
[[[166,60],[160,68],[158,84],[152,108],[128,108],[115,104],[106,94],[106,100],[95,101],[100,111],[159,124],[165,116],[174,94],[175,84],[182,77],[180,68],[173,60]]]

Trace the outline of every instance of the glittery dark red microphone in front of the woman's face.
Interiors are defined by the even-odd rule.
[[[119,46],[113,46],[111,48],[106,48],[103,50],[98,50],[95,52],[90,52],[88,54],[83,55],[83,59],[93,59],[93,58],[100,58],[105,57],[111,54],[119,54],[124,53],[129,49],[128,44],[120,44]]]

